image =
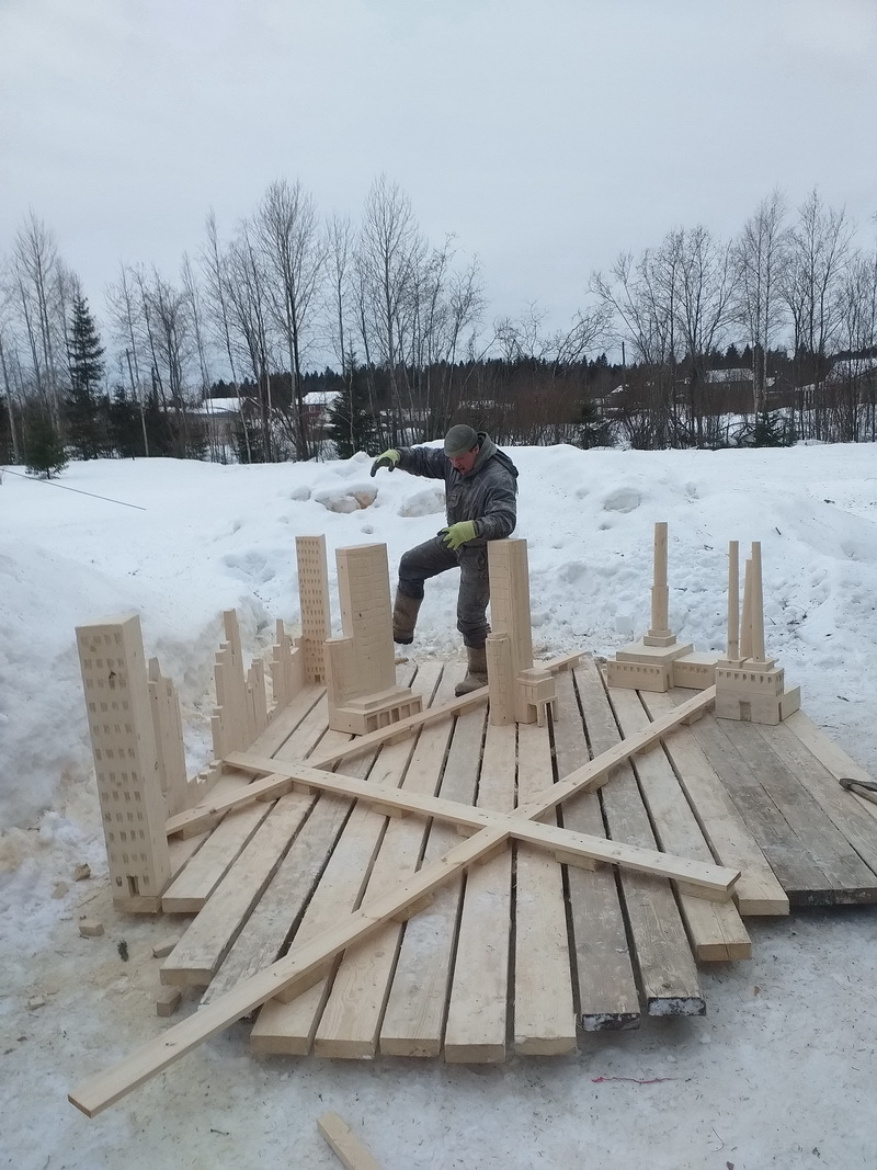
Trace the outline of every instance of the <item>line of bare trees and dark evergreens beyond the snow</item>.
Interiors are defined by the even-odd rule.
[[[877,249],[815,190],[794,211],[773,192],[732,240],[621,253],[562,329],[536,303],[486,316],[477,260],[385,177],[355,223],[284,179],[227,238],[210,213],[174,278],[119,266],[103,329],[30,212],[0,257],[0,457],[301,460],[458,420],[506,443],[877,439]]]

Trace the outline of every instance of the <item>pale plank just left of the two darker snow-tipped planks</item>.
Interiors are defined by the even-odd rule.
[[[518,800],[552,783],[543,728],[518,728]],[[520,844],[515,894],[515,1052],[550,1057],[576,1046],[569,938],[561,867],[544,849]]]

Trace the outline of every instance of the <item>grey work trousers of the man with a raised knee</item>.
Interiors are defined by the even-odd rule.
[[[399,592],[421,600],[424,580],[457,567],[457,629],[467,646],[481,649],[490,633],[486,618],[490,601],[486,544],[464,544],[451,552],[440,536],[434,536],[431,541],[408,549],[399,562]]]

